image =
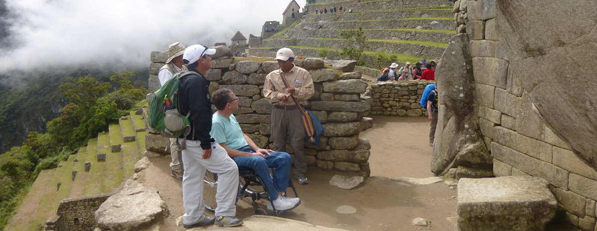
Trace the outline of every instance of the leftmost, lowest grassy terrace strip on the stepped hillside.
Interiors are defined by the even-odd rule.
[[[56,173],[56,168],[42,170],[29,192],[23,199],[23,203],[19,206],[19,209],[14,214],[13,218],[8,222],[4,230],[27,230],[31,224],[43,224],[45,220],[34,220],[33,214],[39,209],[41,199],[49,191],[56,190],[56,185],[51,185],[51,179]]]

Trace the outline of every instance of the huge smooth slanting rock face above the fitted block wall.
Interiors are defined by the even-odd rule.
[[[565,9],[594,4],[591,0],[567,3]],[[597,95],[589,90],[597,87],[597,67],[592,62],[597,59],[597,11],[542,9],[540,5],[546,2],[532,0],[496,4],[496,31],[510,64],[506,90],[518,96],[528,92],[531,108],[535,108],[529,113],[536,114],[575,154],[597,169]],[[562,2],[553,4],[564,7]],[[537,23],[529,24],[529,20]],[[528,136],[547,142],[538,133]]]

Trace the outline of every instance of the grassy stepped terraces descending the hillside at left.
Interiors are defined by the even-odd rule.
[[[133,174],[146,151],[145,135],[143,115],[136,111],[110,124],[109,132],[90,139],[59,167],[39,173],[5,230],[43,230],[61,200],[111,192]]]

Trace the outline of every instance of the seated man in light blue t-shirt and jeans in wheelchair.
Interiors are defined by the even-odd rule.
[[[290,180],[290,166],[292,160],[286,152],[274,152],[271,149],[261,149],[249,136],[242,132],[241,126],[232,114],[238,110],[238,97],[229,89],[219,89],[211,96],[211,101],[217,108],[213,114],[210,135],[219,143],[239,167],[252,168],[255,174],[263,179],[273,206],[278,211],[291,210],[300,204],[298,198],[282,196]],[[269,168],[273,170],[272,179]],[[267,209],[273,210],[270,201]]]

